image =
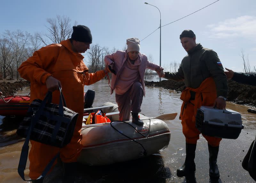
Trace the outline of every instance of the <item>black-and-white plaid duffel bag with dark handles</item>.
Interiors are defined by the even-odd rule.
[[[29,140],[61,148],[71,141],[78,113],[66,107],[61,89],[59,105],[51,102],[50,91],[43,101],[33,100],[16,133],[24,138],[29,135]]]

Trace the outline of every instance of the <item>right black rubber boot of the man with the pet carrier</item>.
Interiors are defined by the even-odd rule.
[[[213,147],[210,144],[208,144],[208,150],[209,150],[209,176],[212,179],[219,179],[220,178],[220,172],[217,165],[217,157],[219,152],[219,146]]]

